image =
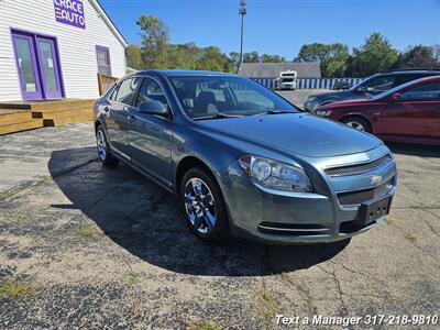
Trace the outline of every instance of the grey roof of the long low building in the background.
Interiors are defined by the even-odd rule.
[[[321,78],[317,62],[243,63],[239,74],[248,78],[278,78],[286,70],[297,72],[298,78]]]

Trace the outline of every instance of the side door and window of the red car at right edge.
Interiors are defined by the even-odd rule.
[[[408,89],[388,103],[381,131],[384,139],[440,139],[440,81]]]

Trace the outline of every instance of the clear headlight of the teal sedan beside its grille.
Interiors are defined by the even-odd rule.
[[[308,176],[297,166],[253,155],[241,157],[239,163],[250,178],[263,187],[287,191],[311,191]]]

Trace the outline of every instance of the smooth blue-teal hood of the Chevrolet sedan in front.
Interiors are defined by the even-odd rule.
[[[311,114],[266,114],[198,121],[197,125],[217,132],[278,148],[293,155],[327,157],[361,153],[382,142],[341,123]]]

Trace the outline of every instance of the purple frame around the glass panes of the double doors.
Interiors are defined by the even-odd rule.
[[[66,89],[65,89],[65,87],[64,87],[64,76],[63,76],[63,68],[62,68],[62,59],[61,59],[61,57],[59,57],[59,50],[58,50],[58,38],[56,37],[56,36],[53,36],[53,35],[47,35],[47,34],[42,34],[42,33],[35,33],[35,32],[32,32],[32,31],[26,31],[26,30],[22,30],[22,29],[14,29],[14,28],[11,28],[10,29],[10,31],[11,31],[11,41],[12,41],[12,46],[13,46],[13,50],[14,50],[14,56],[15,56],[15,64],[16,64],[16,69],[18,69],[18,74],[19,74],[19,78],[20,78],[20,85],[22,86],[22,84],[23,84],[23,81],[22,81],[22,77],[21,77],[21,75],[20,75],[20,65],[19,65],[19,59],[18,59],[18,57],[16,57],[16,50],[15,50],[15,43],[14,43],[14,41],[13,41],[13,36],[14,36],[14,34],[16,35],[16,34],[22,34],[22,35],[28,35],[28,36],[32,36],[32,38],[33,38],[33,45],[34,45],[34,47],[35,47],[35,50],[36,50],[36,47],[37,47],[37,45],[36,45],[36,37],[38,37],[38,36],[41,36],[41,37],[46,37],[46,38],[52,38],[53,41],[54,41],[54,43],[55,43],[55,54],[56,54],[56,58],[55,58],[55,61],[56,61],[56,64],[57,64],[57,67],[58,67],[58,75],[59,75],[59,84],[61,84],[61,86],[59,86],[59,88],[61,88],[61,91],[62,91],[62,98],[66,98]],[[37,54],[38,55],[38,54]],[[38,55],[40,56],[40,55]],[[37,61],[37,58],[35,58],[34,61]],[[34,63],[34,65],[35,65],[35,63]],[[36,65],[36,70],[37,70],[37,76],[38,76],[38,82],[37,84],[40,84],[40,86],[43,86],[43,77],[42,77],[42,73],[40,72],[41,69],[40,69],[40,65]],[[35,77],[36,78],[36,77]],[[24,92],[24,88],[21,88],[21,94],[22,94],[22,97],[23,97],[23,99],[25,100],[26,98],[24,97],[24,95],[23,95],[23,92]],[[44,90],[42,90],[42,97],[43,97],[43,99],[45,99],[45,95],[44,95]]]

